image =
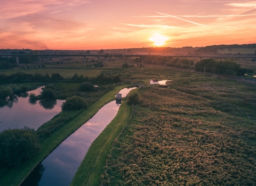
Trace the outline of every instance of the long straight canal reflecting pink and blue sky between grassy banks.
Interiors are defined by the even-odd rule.
[[[125,97],[132,89],[134,88],[125,88],[120,92]],[[119,103],[116,103],[116,100],[100,108],[89,121],[65,139],[42,163],[38,164],[21,185],[31,185],[31,183],[37,183],[36,185],[40,186],[70,185],[91,143],[114,119],[118,109]],[[41,177],[39,180],[38,175]]]

